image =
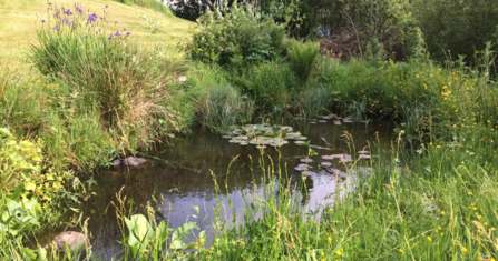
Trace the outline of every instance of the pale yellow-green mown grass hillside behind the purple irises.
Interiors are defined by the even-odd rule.
[[[52,4],[72,7],[75,0],[53,0]],[[150,9],[138,6],[126,6],[110,0],[84,0],[85,9],[101,14],[105,6],[110,21],[118,21],[118,26],[128,29],[133,36],[144,43],[164,42],[173,46],[184,37],[189,27],[195,23],[175,17],[166,17]],[[48,4],[46,0],[3,0],[0,1],[0,60],[7,58],[21,62],[27,56],[30,44],[37,44],[36,28],[40,20],[47,19]],[[144,19],[160,22],[162,28],[152,39],[149,22]]]

